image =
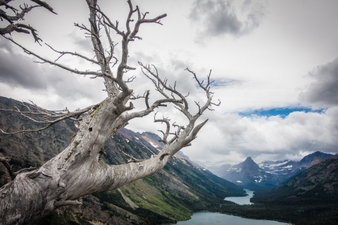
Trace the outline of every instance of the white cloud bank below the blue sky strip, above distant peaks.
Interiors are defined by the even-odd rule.
[[[338,107],[325,113],[290,113],[284,119],[241,117],[237,114],[209,115],[191,149],[184,150],[196,160],[232,160],[251,156],[263,160],[300,160],[317,150],[338,153]]]

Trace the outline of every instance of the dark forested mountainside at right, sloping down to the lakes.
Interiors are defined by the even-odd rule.
[[[273,219],[293,224],[338,224],[338,154],[325,158],[271,191],[256,191],[252,203]]]

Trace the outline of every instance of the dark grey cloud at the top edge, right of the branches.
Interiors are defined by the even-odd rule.
[[[200,38],[219,37],[231,34],[240,37],[256,29],[265,16],[265,8],[261,4],[244,1],[242,11],[249,11],[246,20],[240,20],[236,8],[231,1],[196,0],[194,1],[189,18],[202,27]]]

